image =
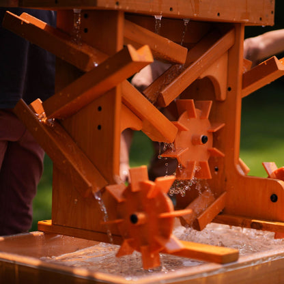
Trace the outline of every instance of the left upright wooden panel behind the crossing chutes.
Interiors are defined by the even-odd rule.
[[[124,14],[113,11],[85,11],[85,14],[87,16],[82,17],[81,24],[87,33],[82,33],[82,40],[104,51],[109,56],[121,51],[123,48]],[[72,12],[57,11],[57,27],[59,29],[71,33],[72,23]],[[57,74],[68,72],[69,67],[61,62]],[[60,78],[57,80],[61,86],[68,84],[66,79],[63,82],[60,81]],[[98,171],[109,184],[121,182],[119,178],[121,104],[121,90],[118,85],[87,104],[74,115],[61,120],[63,128],[76,141],[89,160],[96,165]],[[106,208],[114,208],[111,198],[106,198],[104,204]],[[111,213],[109,216],[112,217]],[[83,200],[74,190],[70,179],[66,175],[62,175],[56,168],[53,171],[52,218],[55,225],[97,231],[107,239],[107,228],[101,224],[104,214],[101,212],[98,200],[95,197]]]

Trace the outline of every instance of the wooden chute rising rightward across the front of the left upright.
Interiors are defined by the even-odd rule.
[[[45,100],[43,104],[47,117],[63,119],[76,113],[152,61],[148,46],[143,46],[138,51],[130,45],[126,46],[97,68]]]

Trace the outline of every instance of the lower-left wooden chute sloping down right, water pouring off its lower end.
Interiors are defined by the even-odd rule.
[[[33,113],[23,100],[16,104],[14,113],[33,134],[57,168],[72,179],[72,184],[83,197],[96,193],[108,184],[57,122],[43,122],[40,117],[42,114]]]

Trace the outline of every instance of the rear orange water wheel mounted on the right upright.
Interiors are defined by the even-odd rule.
[[[211,100],[176,100],[179,119],[173,122],[178,132],[174,147],[165,151],[162,156],[177,158],[177,180],[210,179],[210,156],[224,156],[213,147],[213,133],[225,124],[211,124],[208,119],[212,106]]]

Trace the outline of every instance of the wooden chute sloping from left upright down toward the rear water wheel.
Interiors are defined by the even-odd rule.
[[[128,81],[122,83],[122,102],[142,120],[141,130],[150,139],[173,142],[177,128]]]

